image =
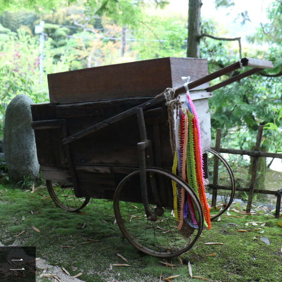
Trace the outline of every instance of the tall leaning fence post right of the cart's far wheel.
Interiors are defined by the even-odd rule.
[[[254,151],[259,152],[263,129],[264,129],[264,126],[259,125],[257,142],[256,142],[256,146],[255,146]],[[254,184],[255,184],[255,181],[256,181],[258,162],[259,162],[259,153],[253,156],[253,166],[252,166],[252,174],[251,174],[251,181],[250,181],[250,190],[249,190],[248,203],[247,203],[247,208],[246,208],[246,212],[248,212],[248,213],[251,211],[251,206],[252,206],[253,189],[254,189]]]

